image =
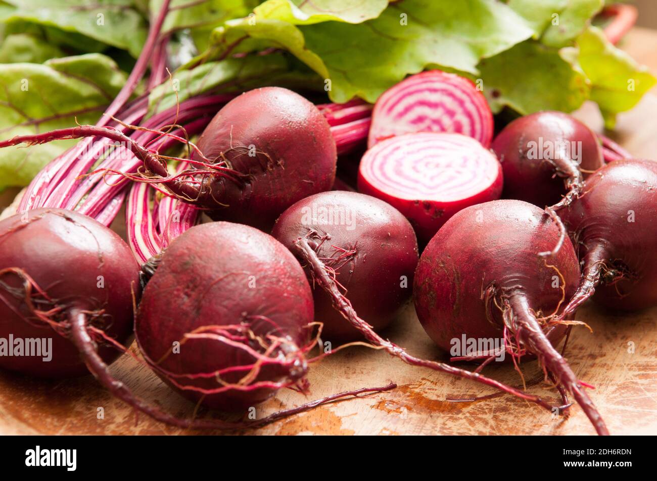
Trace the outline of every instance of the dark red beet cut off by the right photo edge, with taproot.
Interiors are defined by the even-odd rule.
[[[657,163],[617,160],[602,167],[560,215],[583,262],[565,315],[594,291],[593,299],[609,308],[657,305]]]

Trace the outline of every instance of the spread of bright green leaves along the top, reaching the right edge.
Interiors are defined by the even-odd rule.
[[[376,18],[368,2],[306,5],[269,0],[250,16],[225,22],[198,62],[223,58],[235,45],[284,49],[325,79],[334,102],[354,96],[374,102],[406,75],[442,68],[480,79],[495,112],[506,106],[520,114],[570,112],[592,98],[607,125],[654,84],[592,33],[602,0],[403,0]],[[344,5],[349,9],[338,14]],[[636,80],[635,90],[623,90],[628,79]]]

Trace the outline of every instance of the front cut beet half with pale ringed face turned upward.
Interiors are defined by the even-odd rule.
[[[468,136],[400,135],[365,152],[358,190],[396,207],[426,243],[461,209],[499,199],[502,167]]]

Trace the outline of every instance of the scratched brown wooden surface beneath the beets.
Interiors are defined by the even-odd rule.
[[[652,34],[653,45],[655,36]],[[657,159],[655,112],[657,97],[650,95],[635,110],[620,116],[614,138],[636,157]],[[585,106],[577,115],[600,129],[601,121],[593,106]],[[3,205],[10,201],[8,194],[0,198]],[[116,228],[121,230],[120,222]],[[591,325],[593,333],[575,329],[566,357],[579,379],[595,385],[591,398],[612,434],[657,434],[657,308],[618,314],[587,303],[579,310],[578,319]],[[424,333],[412,305],[385,335],[418,356],[445,360]],[[628,343],[635,346],[633,353]],[[543,384],[535,362],[522,369],[532,392],[556,402],[554,390]],[[192,415],[193,404],[129,356],[112,365],[112,371],[139,396],[176,415]],[[511,366],[487,367],[485,373],[520,385]],[[509,395],[452,402],[448,399],[484,396],[494,391],[471,381],[407,366],[367,348],[349,348],[313,364],[308,378],[308,398],[284,390],[258,406],[258,416],[342,390],[386,385],[389,381],[398,387],[321,406],[257,430],[256,434],[594,434],[578,406],[572,408],[568,418],[554,419],[549,412]],[[100,407],[104,408],[104,419],[97,419]],[[199,415],[212,413],[201,410]],[[90,376],[45,381],[0,372],[0,434],[194,432],[162,425],[143,415],[137,417]]]

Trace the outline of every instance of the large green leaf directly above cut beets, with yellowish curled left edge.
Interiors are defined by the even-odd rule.
[[[271,1],[277,0],[261,5],[254,18],[231,20],[215,30],[214,45],[224,49],[212,55],[222,56],[245,35],[267,39],[329,78],[335,102],[353,96],[373,102],[405,75],[430,64],[476,73],[481,58],[533,34],[516,12],[489,0],[405,0],[363,24],[322,22],[300,27],[296,25],[303,22],[273,17],[280,10],[266,8]]]

